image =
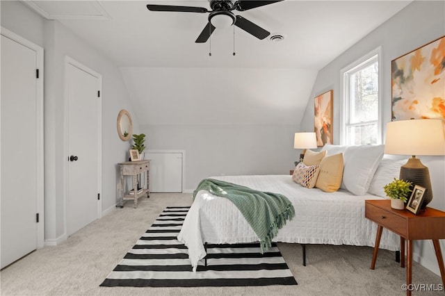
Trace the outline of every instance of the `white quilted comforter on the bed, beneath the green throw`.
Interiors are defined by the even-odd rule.
[[[317,188],[307,189],[294,183],[289,175],[211,178],[288,197],[296,215],[278,231],[274,239],[276,242],[374,246],[377,224],[364,217],[364,200],[382,197],[356,196],[346,190],[327,193]],[[198,261],[206,256],[204,242],[233,244],[259,241],[232,202],[211,195],[206,190],[198,192],[178,240],[188,247],[193,270],[196,270]],[[399,244],[400,238],[384,229],[380,248],[395,251],[399,249]]]

